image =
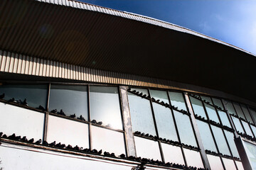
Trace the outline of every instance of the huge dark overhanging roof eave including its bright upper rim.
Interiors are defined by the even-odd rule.
[[[1,0],[0,49],[256,101],[256,58],[249,52],[131,13],[68,0],[51,3]]]

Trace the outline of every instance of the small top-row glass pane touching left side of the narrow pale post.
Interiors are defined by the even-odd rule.
[[[172,106],[178,107],[179,110],[183,109],[184,111],[187,111],[186,103],[184,101],[182,93],[169,91],[169,96],[170,96]]]

